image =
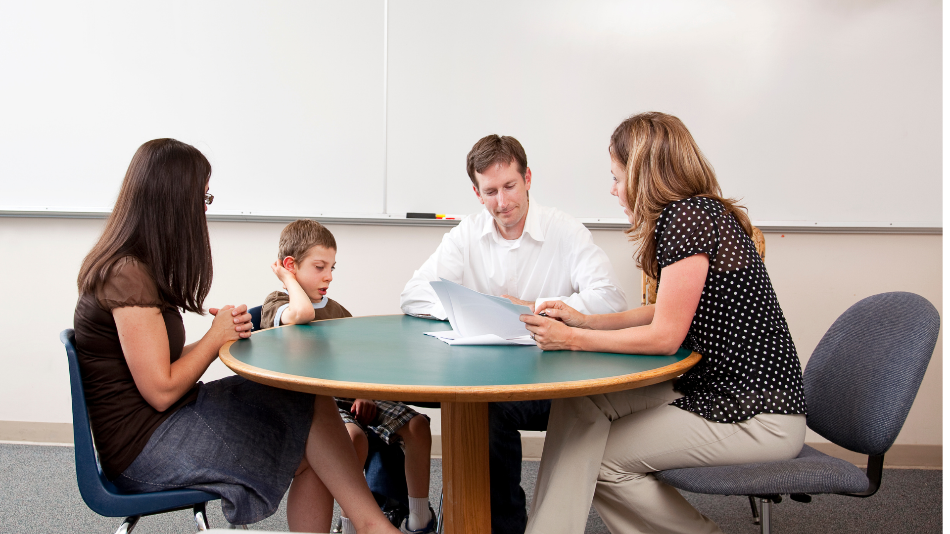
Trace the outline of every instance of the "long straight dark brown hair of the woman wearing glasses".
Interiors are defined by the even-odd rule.
[[[161,297],[204,314],[211,289],[211,243],[204,219],[204,186],[211,163],[190,144],[155,139],[142,144],[125,172],[103,235],[83,260],[77,280],[93,293],[123,257],[135,257],[155,277]]]

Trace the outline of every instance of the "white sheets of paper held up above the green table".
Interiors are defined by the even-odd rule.
[[[536,345],[518,316],[530,314],[527,306],[514,304],[502,296],[470,290],[441,278],[428,282],[446,309],[452,330],[427,332],[449,345]]]

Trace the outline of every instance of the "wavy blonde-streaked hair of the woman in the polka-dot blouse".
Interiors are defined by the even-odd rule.
[[[670,202],[707,197],[725,206],[751,237],[746,208],[725,199],[712,164],[703,156],[682,121],[658,111],[639,113],[620,123],[610,136],[610,156],[627,170],[626,195],[633,226],[625,231],[639,242],[634,257],[648,276],[656,278],[656,220]]]

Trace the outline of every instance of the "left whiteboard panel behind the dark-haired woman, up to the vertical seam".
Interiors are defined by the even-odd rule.
[[[380,212],[383,33],[381,0],[4,2],[0,204],[108,208],[172,137],[209,213]]]

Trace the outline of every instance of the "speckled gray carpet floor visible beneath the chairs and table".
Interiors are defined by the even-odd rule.
[[[537,462],[523,462],[522,478],[530,501]],[[432,460],[430,500],[438,503],[442,491],[442,465]],[[75,532],[111,534],[121,523],[90,511],[79,495],[73,465],[73,449],[0,444],[0,532]],[[730,534],[753,534],[749,502],[744,497],[684,493],[702,513]],[[815,532],[937,533],[942,526],[942,471],[886,469],[877,495],[855,499],[816,495],[809,504],[788,499],[773,509],[776,534]],[[268,519],[252,525],[259,530],[287,530],[284,504]],[[225,527],[220,506],[208,505],[212,526]],[[142,518],[135,532],[191,533],[194,523],[188,511]],[[606,534],[606,525],[593,509],[587,533]]]

